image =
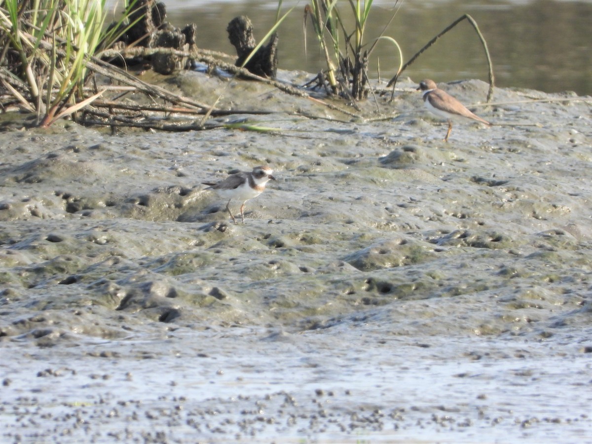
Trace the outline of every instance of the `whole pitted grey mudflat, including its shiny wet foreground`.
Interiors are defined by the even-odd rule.
[[[0,133],[3,440],[590,440],[589,98],[496,89],[444,143],[409,80],[379,121],[165,84],[276,130]],[[234,225],[200,183],[261,164]]]

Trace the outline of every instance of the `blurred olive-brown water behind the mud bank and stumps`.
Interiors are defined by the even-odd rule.
[[[258,38],[272,27],[275,1],[201,2],[168,0],[169,20],[178,26],[198,25],[197,41],[204,49],[234,54],[226,25],[237,15],[247,15]],[[323,58],[308,24],[304,51],[303,9],[306,2],[284,1],[282,11],[294,11],[279,29],[279,67],[316,73]],[[348,2],[343,2],[343,5]],[[392,15],[392,2],[375,2],[369,19],[367,41],[378,36]],[[342,6],[342,11],[347,11]],[[348,11],[349,13],[349,11]],[[584,1],[404,1],[385,35],[395,38],[410,59],[432,37],[456,18],[471,15],[487,40],[499,86],[533,88],[545,92],[575,91],[592,94],[592,2]],[[348,14],[344,14],[348,15]],[[379,61],[379,70],[378,70]],[[371,56],[372,78],[390,79],[398,67],[398,53],[380,43]],[[484,51],[477,34],[464,21],[443,36],[406,70],[416,81],[439,82],[488,78]]]

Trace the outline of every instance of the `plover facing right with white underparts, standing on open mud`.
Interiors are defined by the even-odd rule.
[[[256,166],[252,172],[240,172],[234,173],[228,176],[217,184],[210,182],[202,182],[204,185],[210,185],[205,189],[213,189],[220,195],[220,197],[227,198],[228,203],[226,204],[226,210],[233,222],[236,224],[236,219],[230,211],[229,205],[231,200],[242,201],[240,205],[240,217],[244,223],[244,204],[247,200],[257,197],[265,189],[265,184],[272,179],[275,181],[275,177],[272,176],[273,170],[269,166]]]

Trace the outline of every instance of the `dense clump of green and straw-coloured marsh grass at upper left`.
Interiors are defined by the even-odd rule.
[[[0,79],[22,108],[36,112],[39,126],[75,114],[102,94],[85,94],[88,60],[126,30],[106,29],[107,17],[106,0],[2,2]]]

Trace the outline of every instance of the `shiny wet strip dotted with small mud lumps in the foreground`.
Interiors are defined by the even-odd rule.
[[[569,341],[184,332],[22,350],[3,392],[21,442],[585,442],[590,362]],[[214,329],[217,330],[217,329]],[[245,349],[249,349],[247,353]],[[560,349],[560,350],[559,350]],[[569,372],[561,368],[569,365]],[[35,377],[37,375],[37,377]],[[47,425],[46,425],[47,424]],[[37,426],[37,427],[35,427]],[[38,427],[44,426],[44,427]]]

